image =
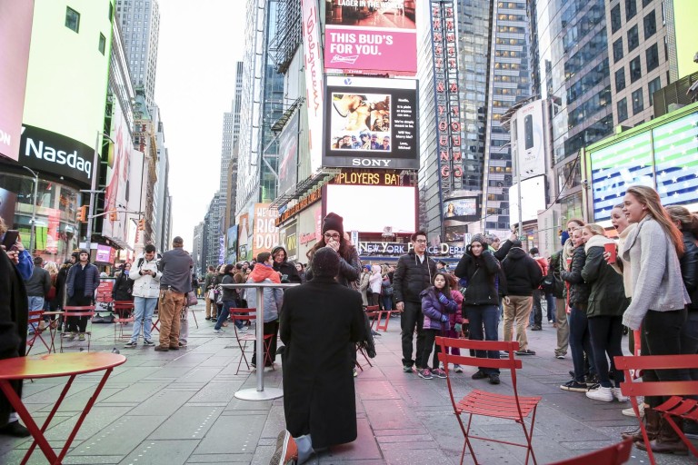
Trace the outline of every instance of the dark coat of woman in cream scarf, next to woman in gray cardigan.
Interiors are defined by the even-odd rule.
[[[594,245],[586,251],[582,279],[589,286],[587,317],[623,315],[628,307],[623,276],[603,259],[603,247]]]

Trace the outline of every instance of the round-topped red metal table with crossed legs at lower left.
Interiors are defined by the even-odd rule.
[[[109,378],[109,375],[114,371],[116,366],[121,365],[125,361],[126,358],[123,355],[104,352],[54,353],[33,357],[16,357],[14,359],[0,361],[0,390],[5,393],[7,400],[10,401],[10,404],[15,408],[19,418],[25,422],[26,428],[34,437],[34,442],[32,442],[29,450],[26,451],[25,458],[22,460],[23,465],[29,460],[37,444],[44,452],[49,463],[62,463],[65,453],[70,448],[73,440],[75,440],[75,435],[82,426],[87,413],[92,409],[102,388],[105,387],[107,378]],[[45,430],[48,428],[49,423],[54,418],[55,412],[58,411],[58,408],[65,399],[65,394],[70,389],[71,384],[73,384],[75,377],[79,374],[92,373],[95,371],[105,371],[105,374],[102,376],[102,380],[99,381],[95,393],[87,401],[85,410],[80,414],[80,418],[77,419],[75,427],[65,441],[63,450],[61,450],[59,455],[56,455],[44,436]],[[56,378],[60,376],[69,376],[70,379],[67,384],[65,384],[65,388],[61,391],[61,395],[58,396],[57,401],[55,401],[55,406],[48,414],[44,425],[39,429],[31,413],[26,410],[25,404],[22,403],[22,400],[12,389],[10,381],[36,380],[39,378]]]

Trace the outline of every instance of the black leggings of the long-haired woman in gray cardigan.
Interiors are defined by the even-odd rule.
[[[686,309],[672,312],[650,310],[644,316],[641,331],[643,355],[678,355],[681,351],[681,330],[686,322]],[[685,370],[644,370],[643,381],[690,381]],[[668,398],[667,398],[668,399]],[[650,407],[656,407],[665,399],[660,396],[645,397]]]

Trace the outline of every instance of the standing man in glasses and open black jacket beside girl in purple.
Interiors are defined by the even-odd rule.
[[[417,328],[417,353],[424,351],[424,315],[422,314],[422,299],[419,293],[432,284],[436,273],[436,262],[426,254],[426,233],[417,231],[410,236],[413,249],[405,253],[397,261],[397,270],[393,276],[395,308],[403,312],[400,319],[403,338],[403,371],[413,372],[414,359],[413,334]],[[416,367],[421,370],[425,367]]]

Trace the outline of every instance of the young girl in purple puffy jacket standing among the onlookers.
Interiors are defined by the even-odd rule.
[[[444,272],[434,274],[434,285],[426,288],[419,295],[422,297],[422,312],[424,313],[424,351],[421,359],[415,364],[423,367],[417,371],[417,375],[424,380],[445,378],[446,372],[439,368],[439,352],[441,348],[437,345],[434,349],[434,360],[432,366],[434,370],[429,370],[429,356],[434,348],[436,336],[445,335],[445,331],[451,329],[451,314],[458,310],[458,304],[451,295],[451,285],[449,277]]]

